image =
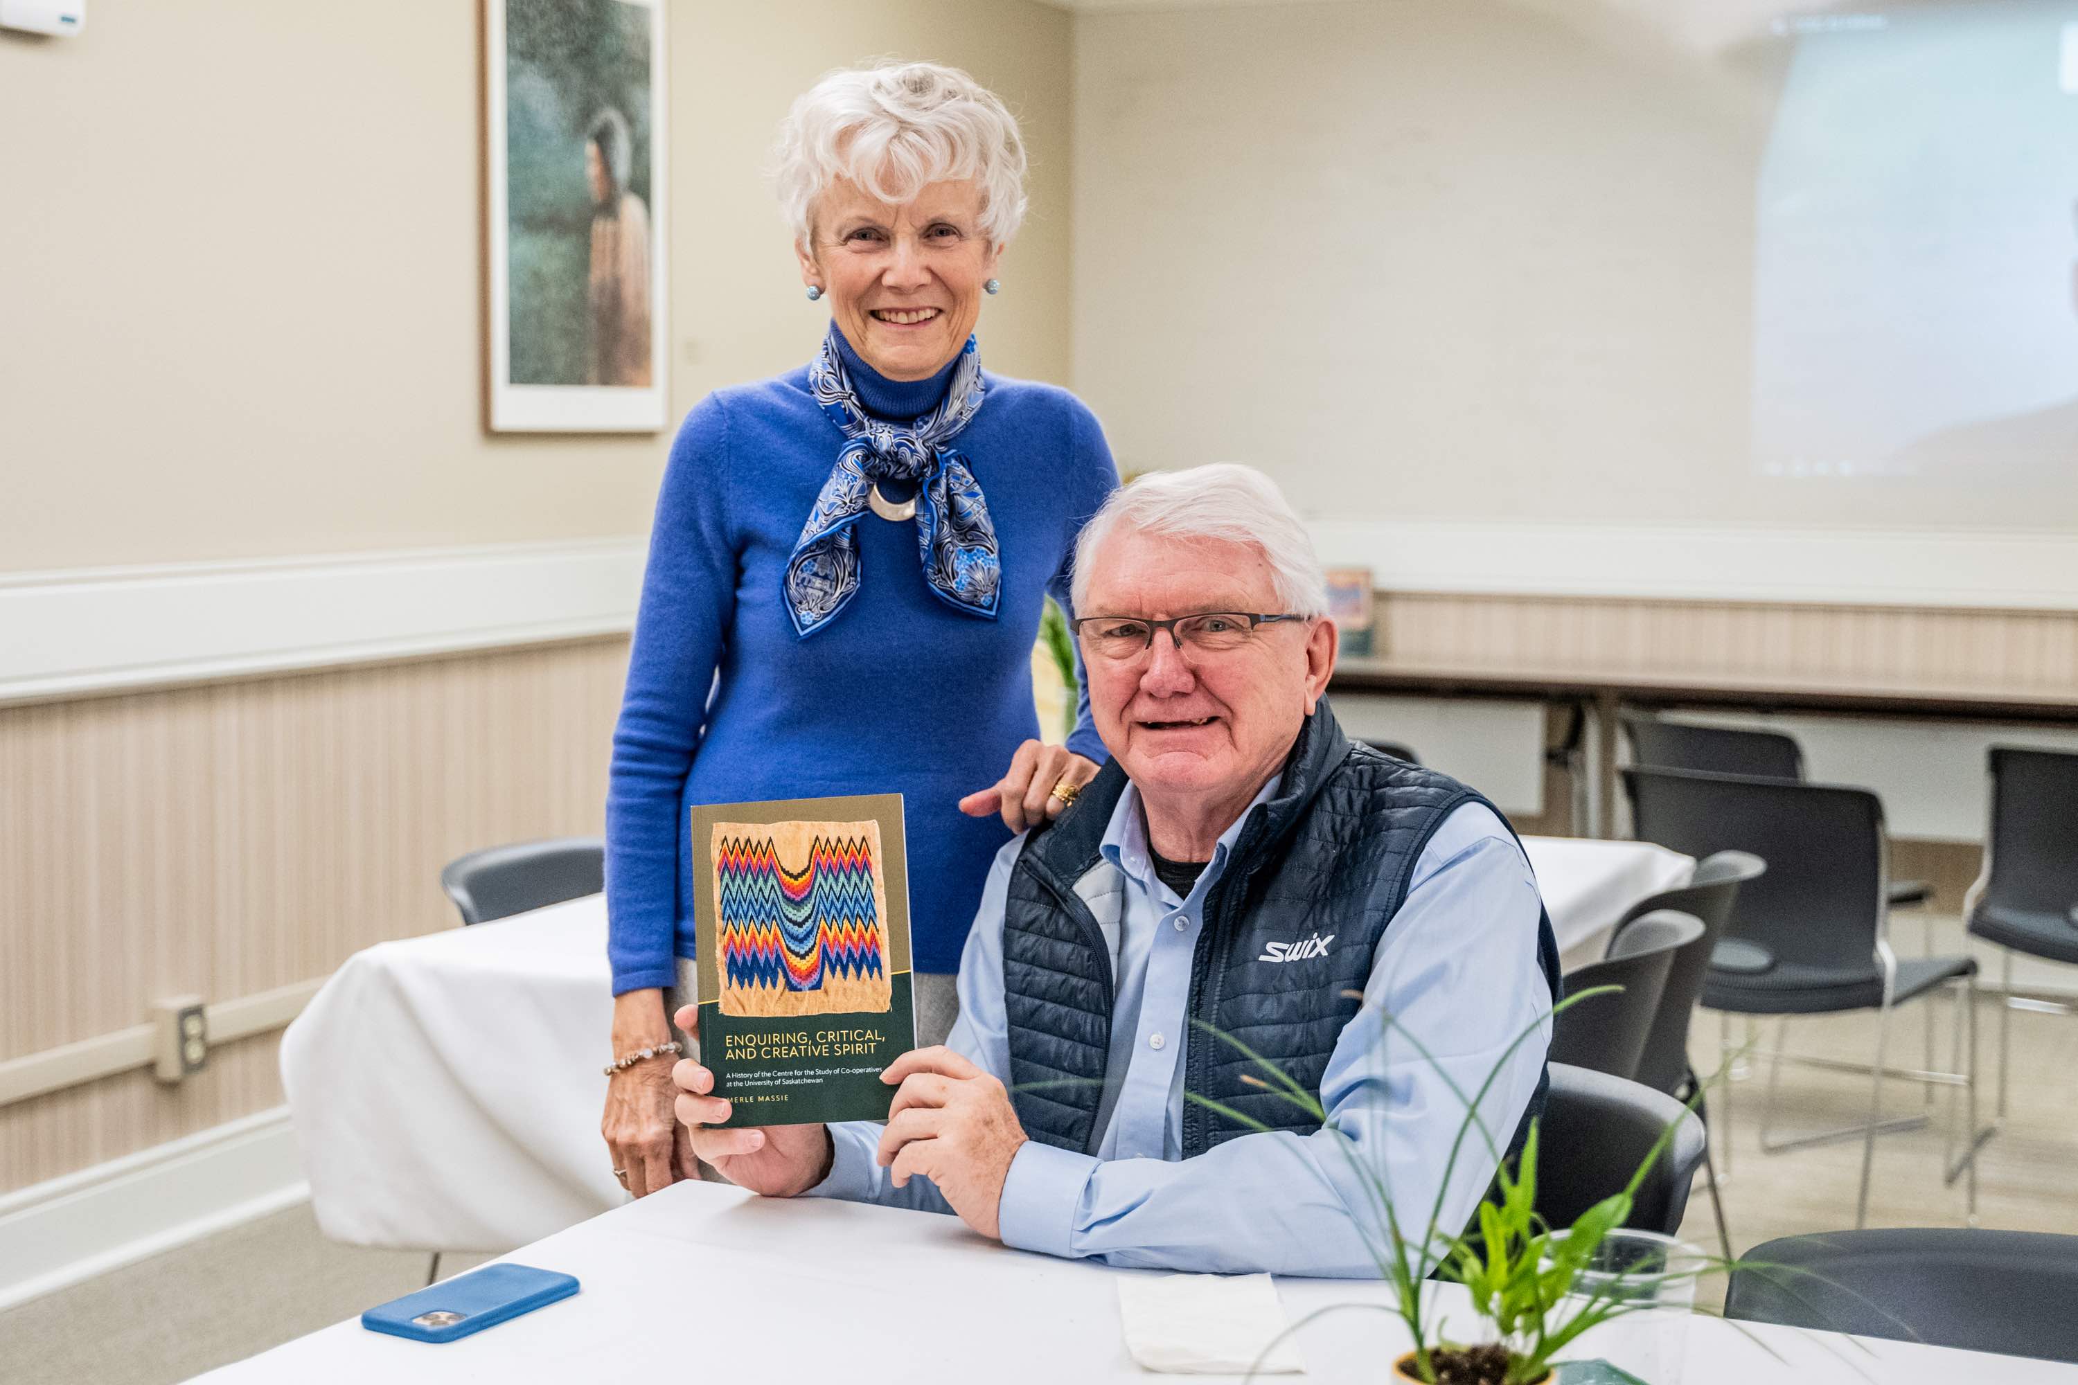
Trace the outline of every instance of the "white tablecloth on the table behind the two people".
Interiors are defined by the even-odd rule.
[[[1635,841],[1529,837],[1569,963],[1694,862]],[[324,1233],[509,1250],[625,1200],[598,1138],[613,1001],[598,895],[355,953],[283,1038]]]

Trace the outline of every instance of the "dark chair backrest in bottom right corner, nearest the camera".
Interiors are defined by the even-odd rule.
[[[1824,1231],[1748,1250],[1725,1316],[2078,1362],[2074,1302],[2078,1235]]]

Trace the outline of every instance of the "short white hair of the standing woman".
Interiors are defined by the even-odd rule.
[[[993,91],[937,62],[837,69],[779,125],[779,206],[808,245],[815,199],[835,179],[902,206],[931,183],[981,185],[981,230],[1002,245],[1024,220],[1024,141]]]

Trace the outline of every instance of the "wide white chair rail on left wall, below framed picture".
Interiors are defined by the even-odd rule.
[[[0,704],[634,629],[640,538],[0,573]]]

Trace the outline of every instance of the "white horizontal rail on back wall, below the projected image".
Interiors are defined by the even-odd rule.
[[[1315,519],[1328,565],[1475,596],[2078,610],[2078,534]]]

